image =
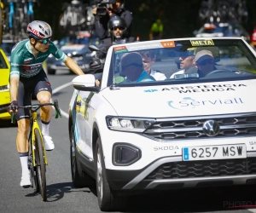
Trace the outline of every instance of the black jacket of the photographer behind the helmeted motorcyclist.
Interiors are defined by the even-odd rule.
[[[127,26],[127,33],[128,33],[127,37],[131,36],[132,14],[129,10],[121,9],[119,13],[111,14],[111,16],[109,16],[108,14],[102,15],[102,16],[96,16],[95,31],[96,31],[97,37],[99,37],[101,40],[108,37],[108,20],[110,20],[112,17],[116,15],[118,15],[119,17],[125,20],[125,23]]]

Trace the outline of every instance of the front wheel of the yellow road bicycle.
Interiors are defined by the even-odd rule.
[[[45,164],[44,164],[44,150],[43,142],[39,134],[39,130],[35,129],[35,158],[37,164],[37,177],[39,191],[41,193],[42,199],[46,200],[46,176],[45,176]]]

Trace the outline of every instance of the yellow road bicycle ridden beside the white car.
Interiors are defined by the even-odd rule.
[[[31,172],[32,186],[35,186],[36,192],[40,193],[43,201],[46,201],[46,165],[48,160],[44,149],[44,137],[38,125],[38,109],[44,106],[55,107],[55,118],[61,117],[61,110],[58,101],[46,104],[33,104],[19,108],[28,109],[30,112],[30,131],[28,136],[29,160],[28,169]],[[15,109],[13,109],[15,110]],[[11,123],[15,123],[15,114],[12,114]]]

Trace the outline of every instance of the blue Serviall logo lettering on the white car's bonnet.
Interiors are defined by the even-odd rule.
[[[183,97],[181,101],[167,101],[169,107],[177,110],[193,109],[195,107],[210,107],[221,105],[237,105],[244,102],[240,97],[234,97],[230,99],[207,99],[207,100],[195,100],[191,97]]]

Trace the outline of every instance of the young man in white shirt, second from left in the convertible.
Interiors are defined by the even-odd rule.
[[[152,69],[152,66],[155,61],[154,50],[141,51],[140,55],[142,55],[143,57],[144,70],[148,72],[149,75],[151,75],[156,81],[166,79],[166,75],[164,73],[161,73],[160,71],[156,71]]]

